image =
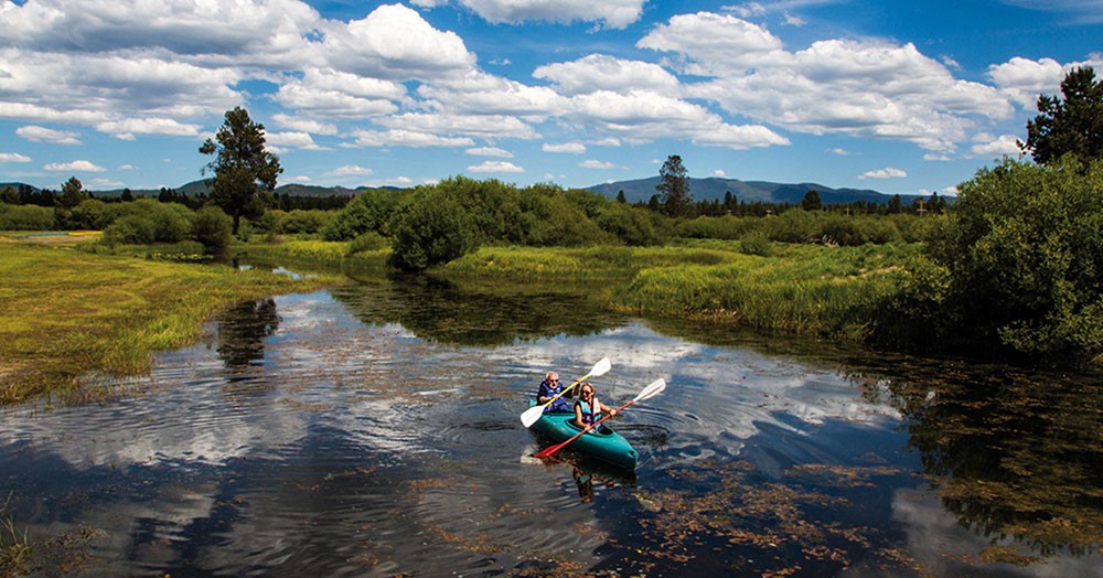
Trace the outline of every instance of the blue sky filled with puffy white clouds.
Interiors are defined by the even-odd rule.
[[[1073,66],[1103,0],[25,0],[0,4],[0,182],[202,176],[247,108],[280,183],[658,173],[953,193]]]

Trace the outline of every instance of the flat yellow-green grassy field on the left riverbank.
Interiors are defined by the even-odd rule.
[[[141,373],[152,352],[192,342],[206,318],[236,302],[338,280],[73,248],[89,239],[0,236],[0,404],[84,395],[79,377]]]

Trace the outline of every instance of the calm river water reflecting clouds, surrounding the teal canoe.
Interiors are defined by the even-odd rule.
[[[532,458],[543,374],[604,356],[608,405],[667,382],[607,421],[635,471]],[[35,576],[1103,576],[1090,376],[366,277],[101,386],[0,410]]]

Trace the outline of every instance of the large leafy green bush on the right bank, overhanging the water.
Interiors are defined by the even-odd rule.
[[[953,334],[1036,360],[1103,355],[1103,160],[1005,159],[959,190],[932,246]]]

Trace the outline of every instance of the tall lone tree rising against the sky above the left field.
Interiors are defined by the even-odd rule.
[[[215,140],[207,139],[200,152],[215,156],[206,167],[214,172],[211,201],[234,218],[237,234],[242,217],[259,217],[272,204],[271,192],[283,172],[279,157],[265,150],[265,126],[253,122],[242,107],[226,111]]]

